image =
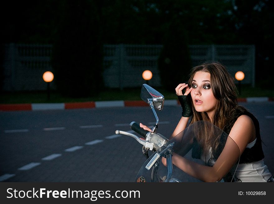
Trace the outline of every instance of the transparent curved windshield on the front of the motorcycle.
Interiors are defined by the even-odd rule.
[[[220,169],[218,173],[223,175],[221,182],[233,181],[239,163],[240,150],[234,140],[215,125],[205,121],[193,123],[169,140],[165,146],[171,143],[173,144],[172,154],[187,160],[193,172],[199,171],[201,166],[212,168],[215,165],[214,168],[218,167]],[[167,176],[167,167],[162,163],[163,155],[157,160],[158,165],[154,165],[150,170],[145,168],[156,153],[161,153],[161,150],[157,150],[147,159],[140,168],[135,182],[163,182],[163,178]],[[186,173],[175,165],[172,165],[172,169],[173,175],[169,182],[202,182],[193,177],[192,172]]]

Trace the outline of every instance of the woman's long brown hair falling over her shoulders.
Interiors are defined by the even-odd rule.
[[[224,129],[229,119],[232,117],[237,107],[237,89],[234,83],[234,78],[229,74],[226,67],[220,62],[205,62],[199,66],[193,67],[189,75],[188,85],[191,87],[193,77],[197,71],[204,71],[210,74],[210,86],[214,97],[217,100],[215,111],[210,121],[206,112],[197,112],[192,101],[193,117],[191,124],[204,120],[213,123],[220,129]],[[210,130],[208,130],[210,132]],[[208,132],[208,133],[209,133]],[[201,135],[200,142],[206,146],[217,148],[219,137],[211,134]],[[201,141],[202,140],[202,141]],[[205,147],[204,147],[205,148]]]

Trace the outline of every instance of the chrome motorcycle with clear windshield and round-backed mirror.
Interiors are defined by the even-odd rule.
[[[168,139],[157,132],[159,118],[156,110],[163,109],[164,96],[149,85],[143,84],[140,97],[149,104],[156,119],[151,131],[140,128],[135,121],[130,123],[130,127],[143,138],[126,131],[115,131],[116,134],[130,136],[143,145],[142,153],[146,157],[146,161],[140,168],[135,182],[202,182],[173,165],[172,154],[176,153],[189,162],[212,167],[228,143],[234,158],[238,158],[238,160],[219,182],[234,181],[240,150],[229,135],[209,122],[197,121],[172,139]],[[217,138],[218,146],[214,146],[210,140],[205,138]],[[166,166],[162,163],[163,158],[166,160]]]

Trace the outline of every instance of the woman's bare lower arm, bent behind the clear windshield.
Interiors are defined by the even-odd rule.
[[[201,181],[220,181],[237,162],[248,142],[253,140],[254,135],[255,128],[253,121],[247,115],[242,115],[237,119],[231,129],[230,137],[228,137],[224,149],[213,167],[192,162],[176,153],[173,153],[172,163],[187,174]],[[162,162],[166,165],[164,159]]]

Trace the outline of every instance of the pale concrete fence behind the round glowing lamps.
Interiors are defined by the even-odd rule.
[[[104,83],[109,88],[140,87],[145,83],[144,70],[153,73],[149,85],[161,86],[158,56],[162,45],[104,45]],[[245,73],[242,84],[255,85],[254,45],[191,45],[192,66],[204,61],[220,61],[234,76],[238,70]],[[51,66],[52,45],[5,45],[4,91],[46,90],[42,79]],[[182,62],[183,65],[183,62]],[[87,67],[88,69],[88,67]],[[51,82],[54,89],[54,80]]]

